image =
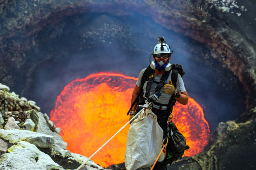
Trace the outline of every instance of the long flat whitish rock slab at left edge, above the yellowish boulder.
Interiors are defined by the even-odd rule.
[[[41,148],[50,148],[54,141],[54,138],[51,135],[18,129],[0,129],[0,137],[2,137],[4,140],[8,140],[10,143],[24,140]]]

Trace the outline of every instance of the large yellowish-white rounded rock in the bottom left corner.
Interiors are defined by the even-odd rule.
[[[7,149],[9,153],[0,157],[1,170],[64,170],[50,156],[40,151],[35,145],[25,141],[17,142]]]

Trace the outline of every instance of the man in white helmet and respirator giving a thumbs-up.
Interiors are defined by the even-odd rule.
[[[171,48],[164,42],[165,41],[163,40],[161,43],[156,44],[153,51],[154,61],[150,63],[150,68],[148,67],[147,69],[145,68],[141,70],[139,74],[131,102],[133,103],[139,95],[141,95],[141,97],[140,101],[135,102],[133,105],[130,111],[129,120],[132,119],[136,114],[135,110],[139,102],[140,105],[143,105],[145,100],[147,102],[153,102],[154,105],[152,111],[157,115],[157,121],[159,126],[163,129],[165,137],[165,135],[167,135],[168,116],[170,115],[170,112],[172,112],[172,102],[170,101],[175,98],[179,103],[186,105],[188,101],[188,95],[185,90],[183,79],[179,73],[176,82],[176,88],[172,84],[169,84],[173,72],[169,61],[173,51],[171,51]],[[151,75],[148,73],[150,72],[150,69],[152,70]],[[143,83],[142,77],[145,77],[145,83]],[[165,82],[162,83],[161,86],[159,82],[163,80],[163,77],[166,77],[167,79],[164,79]],[[157,88],[158,84],[159,87]],[[171,98],[172,96],[174,96],[174,98]],[[139,110],[137,109],[137,112],[138,111]],[[166,170],[165,161],[157,162],[154,166],[154,170]]]

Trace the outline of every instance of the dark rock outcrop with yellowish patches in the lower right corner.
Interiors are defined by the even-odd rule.
[[[244,123],[221,122],[205,151],[171,165],[173,169],[253,169],[256,151],[256,115]],[[225,158],[229,158],[228,160]],[[240,160],[240,158],[243,158]],[[223,168],[225,167],[225,168]]]

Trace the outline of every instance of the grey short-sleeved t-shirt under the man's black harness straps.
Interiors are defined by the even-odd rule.
[[[140,71],[138,80],[136,82],[136,85],[138,87],[141,86],[140,82],[141,82],[141,78],[142,78],[142,75],[144,74],[145,70],[146,70],[146,68],[144,68],[143,70]],[[168,79],[166,80],[166,84],[169,84],[169,80],[171,80],[171,74],[172,74],[172,71],[171,71]],[[154,82],[160,82],[160,79],[161,79],[162,76],[163,75],[154,75]],[[152,86],[151,86],[150,95],[149,95],[150,97],[152,95],[154,95],[154,93],[156,91],[157,84],[154,83],[154,82],[152,83]],[[143,85],[144,97],[145,97],[146,87],[147,87],[147,81]],[[176,89],[178,90],[179,93],[186,91],[184,83],[183,83],[183,79],[181,78],[179,73],[178,73],[178,79],[177,79],[177,83],[176,83]],[[165,93],[164,88],[162,88],[161,89],[161,96],[156,100],[156,102],[159,102],[161,104],[166,105],[166,104],[168,104],[170,98],[171,98],[171,95],[168,95],[167,93]]]

